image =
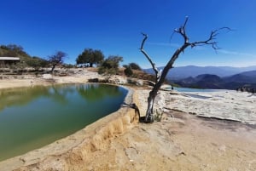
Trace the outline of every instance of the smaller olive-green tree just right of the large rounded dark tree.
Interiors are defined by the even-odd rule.
[[[99,67],[98,73],[107,76],[107,79],[109,79],[112,75],[119,72],[119,62],[121,61],[123,61],[123,57],[121,56],[108,56],[108,58],[104,60],[102,65]]]

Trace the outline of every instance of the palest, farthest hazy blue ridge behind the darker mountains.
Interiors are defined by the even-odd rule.
[[[163,69],[164,67],[159,67]],[[202,74],[217,75],[218,77],[230,77],[232,75],[256,70],[256,66],[248,67],[230,67],[230,66],[180,66],[172,68],[167,74],[166,79],[180,80],[187,77],[196,77]],[[145,69],[144,71],[154,74],[152,69]]]

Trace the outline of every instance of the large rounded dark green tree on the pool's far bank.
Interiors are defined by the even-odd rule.
[[[94,64],[100,64],[104,60],[104,55],[101,50],[85,48],[82,54],[76,59],[77,64],[89,64],[92,67]]]

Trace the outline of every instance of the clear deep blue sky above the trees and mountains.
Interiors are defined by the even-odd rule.
[[[145,49],[157,66],[164,66],[181,45],[172,31],[189,16],[189,40],[205,40],[210,31],[229,26],[211,47],[187,49],[174,66],[256,66],[255,0],[0,0],[0,44],[15,43],[32,56],[46,58],[61,50],[66,63],[84,48],[101,49],[106,57],[120,55],[123,64],[150,67]]]

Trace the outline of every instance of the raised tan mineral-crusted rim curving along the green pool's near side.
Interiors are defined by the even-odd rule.
[[[128,89],[124,100],[126,104],[136,103],[139,105],[137,94],[134,93],[133,89],[125,86],[120,87]],[[125,133],[137,121],[138,117],[133,109],[120,107],[118,111],[102,117],[66,138],[0,162],[0,170],[31,170],[43,165],[44,168],[55,169],[55,162],[68,166],[68,168],[83,165],[86,163],[88,153],[104,149],[107,140]],[[68,164],[70,162],[77,164],[70,165]]]

